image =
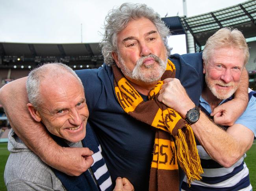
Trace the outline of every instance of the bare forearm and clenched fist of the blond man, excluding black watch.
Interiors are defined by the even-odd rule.
[[[182,118],[186,118],[187,111],[195,107],[195,104],[187,96],[185,89],[175,79],[165,81],[165,84],[162,85],[162,94],[158,96],[158,100],[178,111]],[[230,103],[232,103],[232,101],[226,104]],[[234,106],[237,107],[237,105]],[[213,160],[224,167],[229,167],[239,160],[246,151],[245,148],[247,148],[247,146],[250,147],[252,142],[250,140],[246,141],[248,139],[248,132],[243,133],[246,131],[246,127],[236,128],[234,131],[237,133],[232,131],[227,133],[211,122],[208,116],[202,113],[202,111],[200,111],[199,120],[191,125],[191,127],[206,152]],[[230,128],[231,127],[228,128],[228,131]],[[242,134],[243,136],[241,136]],[[243,139],[239,139],[240,137]]]

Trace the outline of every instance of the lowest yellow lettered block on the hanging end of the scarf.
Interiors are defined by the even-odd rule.
[[[178,169],[175,144],[167,139],[155,139],[152,168],[174,170]]]

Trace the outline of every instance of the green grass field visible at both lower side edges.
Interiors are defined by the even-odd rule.
[[[256,188],[256,141],[247,151],[247,157],[245,158],[245,163],[247,164],[250,171],[250,183],[252,187]],[[9,156],[9,151],[7,150],[7,143],[0,143],[0,191],[6,191],[4,184],[4,167],[6,165],[7,158]]]

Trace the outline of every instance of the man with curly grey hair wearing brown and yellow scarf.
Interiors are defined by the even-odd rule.
[[[126,177],[135,190],[178,190],[184,176],[178,162],[189,182],[200,179],[202,172],[190,126],[176,111],[158,102],[161,85],[170,85],[167,79],[176,77],[198,105],[204,79],[202,54],[168,58],[169,35],[169,29],[152,8],[122,4],[106,17],[104,39],[100,42],[103,67],[76,71],[83,84],[91,84],[85,86],[90,112],[87,125],[96,131],[111,179]],[[3,97],[11,92],[24,95],[22,88],[16,88],[22,83],[9,83],[0,93],[15,132],[47,164],[70,175],[80,175],[88,168],[81,153],[63,150],[42,132],[39,124],[28,120],[25,114],[19,119],[11,112],[13,106],[22,110],[26,100],[16,98],[17,104],[8,104],[9,98]],[[234,118],[247,104],[237,102],[243,107],[236,110]],[[228,109],[234,111],[230,106]],[[37,136],[35,141],[33,131],[22,123],[25,117],[29,126],[44,136]]]

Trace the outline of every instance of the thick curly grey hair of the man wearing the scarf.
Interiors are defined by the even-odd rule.
[[[172,48],[167,44],[167,37],[171,33],[169,28],[161,20],[161,16],[145,4],[124,3],[119,8],[109,11],[106,16],[104,24],[105,33],[99,45],[102,47],[102,55],[107,65],[111,66],[115,64],[111,53],[118,52],[117,34],[127,26],[130,20],[142,17],[147,18],[156,26],[167,50],[167,54],[170,55]]]

